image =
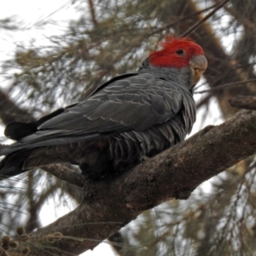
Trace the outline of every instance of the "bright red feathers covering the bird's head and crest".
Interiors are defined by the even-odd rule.
[[[189,61],[195,55],[204,55],[201,46],[189,38],[168,36],[160,43],[163,49],[156,50],[148,57],[149,63],[156,67],[189,67]]]

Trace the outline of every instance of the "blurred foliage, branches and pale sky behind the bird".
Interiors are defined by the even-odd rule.
[[[137,70],[166,34],[205,51],[192,131],[234,116],[234,96],[256,92],[256,0],[9,0],[0,8],[0,143],[10,121],[32,121]],[[241,83],[239,83],[241,82]],[[218,88],[221,86],[221,88]],[[227,142],[228,143],[228,142]],[[230,148],[231,150],[231,148]],[[189,172],[189,166],[188,166]],[[194,191],[143,212],[83,255],[256,255],[255,157]],[[43,227],[79,205],[81,191],[35,170],[0,184],[0,236]],[[101,249],[102,247],[102,249]]]

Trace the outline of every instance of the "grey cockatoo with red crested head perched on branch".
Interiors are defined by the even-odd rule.
[[[35,122],[9,123],[0,144],[0,179],[55,163],[79,166],[84,178],[119,175],[184,140],[195,123],[195,84],[207,58],[190,38],[166,36],[160,49],[83,101]]]

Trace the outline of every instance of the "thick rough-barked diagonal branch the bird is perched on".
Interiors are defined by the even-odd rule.
[[[85,183],[78,208],[21,243],[35,248],[32,255],[82,253],[144,210],[172,198],[189,198],[199,184],[255,152],[256,112],[238,113],[234,119],[208,126],[120,177]],[[63,238],[49,242],[45,237],[56,231]]]

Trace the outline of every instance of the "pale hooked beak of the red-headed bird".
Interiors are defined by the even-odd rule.
[[[195,85],[201,79],[202,73],[207,69],[207,58],[204,55],[195,55],[189,61],[191,67],[191,80],[192,84]]]

